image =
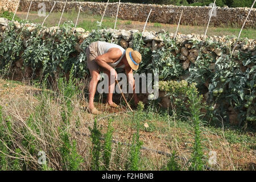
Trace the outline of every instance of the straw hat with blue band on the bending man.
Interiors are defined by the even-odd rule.
[[[136,71],[139,68],[139,63],[141,63],[141,53],[127,48],[125,55],[130,67]]]

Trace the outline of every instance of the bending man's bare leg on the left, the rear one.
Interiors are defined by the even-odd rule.
[[[96,93],[97,83],[100,78],[100,72],[96,70],[90,70],[90,84],[89,84],[89,109],[93,114],[98,114],[97,109],[94,107],[93,100]]]

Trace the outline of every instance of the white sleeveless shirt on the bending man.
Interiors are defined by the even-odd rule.
[[[107,53],[110,48],[118,48],[122,51],[122,56],[119,58],[119,60],[115,61],[115,63],[108,63],[110,67],[115,68],[120,63],[123,56],[125,56],[126,51],[125,49],[123,49],[121,46],[118,46],[117,44],[98,41],[98,55],[104,55],[104,53]],[[118,68],[125,68],[125,65],[123,64]]]

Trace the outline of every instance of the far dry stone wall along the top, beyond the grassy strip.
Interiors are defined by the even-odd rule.
[[[12,3],[10,4],[10,2]],[[1,0],[2,6],[5,5],[5,7],[10,10],[14,10],[16,2],[18,2],[18,0]],[[30,0],[21,0],[20,10],[27,11],[30,2]],[[35,0],[35,2],[32,3],[31,11],[38,11],[38,4],[42,2],[46,4],[47,11],[50,11],[53,6],[53,1],[49,0]],[[54,11],[61,11],[64,7],[64,3],[65,2],[63,1],[58,1],[55,5]],[[79,9],[80,5],[82,5],[82,11],[84,12],[87,11],[93,14],[102,15],[104,13],[106,3],[69,1],[65,10],[70,11],[72,9]],[[106,15],[115,16],[117,6],[118,3],[109,3]],[[180,13],[183,11],[181,24],[206,25],[211,7],[121,3],[118,17],[126,20],[139,20],[144,22],[147,19],[150,9],[152,9],[149,19],[150,22],[177,24]],[[249,8],[217,7],[216,16],[212,17],[211,23],[214,24],[214,26],[220,26],[222,24],[236,24],[241,26],[247,16],[247,13],[249,13]],[[256,9],[253,9],[246,22],[246,27],[256,27],[255,22]]]

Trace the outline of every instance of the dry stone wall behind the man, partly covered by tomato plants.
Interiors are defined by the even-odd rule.
[[[19,29],[22,26],[27,27],[28,31],[33,31],[35,30],[35,24],[20,24],[18,22],[14,22],[15,26],[17,29]],[[8,21],[4,18],[0,18],[0,41],[1,37],[3,38],[3,32],[5,32],[8,26]],[[40,35],[42,36],[42,39],[47,38],[49,36],[53,36],[56,34],[56,32],[59,32],[57,30],[57,27],[51,27],[51,28],[45,28],[42,31],[40,31]],[[73,30],[72,30],[73,32]],[[84,42],[84,40],[89,39],[90,37],[90,32],[85,31],[82,28],[76,28],[76,34],[78,36],[78,40],[75,46],[76,51],[75,54],[72,56],[78,57],[80,55],[80,52],[84,51],[81,48],[81,44]],[[101,30],[100,31],[102,35],[106,35],[106,32],[110,32],[114,34],[114,38],[118,40],[118,43],[120,46],[123,48],[131,47],[133,44],[133,35],[138,32],[138,30],[130,30],[130,31],[125,31],[125,30]],[[152,51],[159,49],[164,46],[164,40],[162,39],[162,35],[164,33],[164,30],[160,32],[144,32],[143,34],[143,41],[146,43],[146,47],[149,47]],[[166,34],[167,36],[170,36],[171,38],[174,37],[174,34]],[[183,70],[188,70],[189,68],[192,68],[193,64],[195,65],[195,62],[197,60],[197,57],[199,56],[199,53],[203,53],[204,55],[212,55],[214,56],[214,59],[218,60],[218,58],[223,58],[228,56],[230,54],[230,49],[229,47],[234,45],[236,42],[236,38],[230,39],[226,36],[214,36],[214,37],[208,37],[209,40],[212,40],[213,43],[221,43],[224,46],[221,47],[212,47],[212,46],[204,46],[205,43],[205,38],[203,35],[196,35],[196,34],[191,34],[191,35],[182,35],[178,34],[176,37],[176,43],[178,46],[178,49],[176,49],[174,52],[171,52],[172,55],[177,57],[178,61],[180,64],[182,64],[182,69]],[[196,42],[197,40],[203,40],[201,42],[201,47],[199,44],[196,46],[193,42]],[[209,41],[208,40],[208,41]],[[24,42],[24,40],[23,40]],[[26,43],[26,41],[25,41]],[[24,44],[24,43],[23,43]],[[26,44],[24,44],[26,47]],[[227,46],[227,47],[225,47]],[[251,68],[255,65],[256,60],[254,60],[253,64],[248,64],[248,65],[243,65],[240,61],[239,55],[240,53],[246,53],[250,54],[252,56],[256,56],[256,40],[255,39],[243,39],[238,42],[238,46],[236,47],[236,51],[234,52],[234,60],[236,60],[241,67],[242,72],[246,72],[248,68]],[[85,64],[84,61],[80,62],[81,64]],[[1,60],[0,60],[1,64]],[[14,61],[14,72],[13,75],[27,75],[30,77],[32,74],[32,69],[27,67],[24,69],[26,72],[22,71],[23,67],[23,60],[20,58],[19,60]],[[215,63],[210,63],[209,69],[214,72],[214,69],[216,69]],[[40,71],[39,71],[40,72]],[[185,80],[187,78],[187,75],[181,75],[180,76],[181,80]],[[205,87],[209,89],[209,81],[205,81],[204,83]],[[166,93],[163,91],[159,92],[159,97],[161,98],[160,104],[163,107],[168,107],[170,106],[170,98],[166,96]],[[209,92],[204,94],[205,99],[209,98]],[[142,96],[141,100],[144,102],[147,102],[147,97]],[[234,111],[232,107],[227,107],[229,109],[229,119],[230,123],[237,124],[238,122],[238,112]]]

